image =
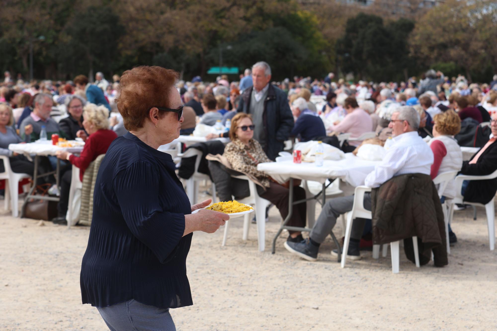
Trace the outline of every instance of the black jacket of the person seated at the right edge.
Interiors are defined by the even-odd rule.
[[[473,155],[471,160],[475,156],[476,154]],[[476,164],[470,165],[469,161],[463,162],[460,173],[472,176],[484,176],[491,174],[495,170],[497,170],[497,144],[494,142],[478,158]],[[494,198],[496,192],[497,179],[470,180],[466,192],[464,192],[464,200],[487,204]]]

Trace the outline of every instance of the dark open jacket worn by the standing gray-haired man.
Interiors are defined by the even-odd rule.
[[[252,89],[253,86],[242,94],[238,112],[249,113]],[[285,92],[269,84],[262,116],[266,135],[266,146],[262,146],[262,149],[267,157],[274,161],[278,153],[283,151],[284,141],[290,137],[294,125],[292,111]]]

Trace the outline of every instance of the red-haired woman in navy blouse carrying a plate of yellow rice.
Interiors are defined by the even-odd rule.
[[[190,206],[170,155],[183,121],[177,73],[137,67],[121,76],[117,108],[129,131],[98,170],[81,268],[83,303],[110,330],[175,330],[170,308],[192,305],[186,256],[192,233],[213,233],[228,214]]]

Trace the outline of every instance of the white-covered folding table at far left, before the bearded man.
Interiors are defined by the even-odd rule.
[[[57,169],[55,171],[49,171],[46,173],[38,173],[38,163],[39,163],[39,158],[43,156],[54,156],[57,151],[65,151],[65,152],[70,152],[70,153],[81,153],[83,151],[83,146],[78,146],[78,147],[59,147],[52,145],[52,140],[47,140],[46,142],[37,142],[37,143],[29,143],[29,144],[10,144],[8,145],[8,149],[12,152],[22,154],[26,156],[28,159],[32,159],[34,156],[34,173],[33,173],[33,183],[36,183],[36,180],[40,176],[47,176],[47,175],[55,175],[55,180],[56,180],[56,185],[59,188],[60,192],[60,185],[59,185],[59,172],[60,172],[60,160],[57,159]],[[79,175],[77,178],[74,176],[74,171],[73,171],[73,176],[71,178],[72,181],[74,180],[80,180]],[[24,203],[22,204],[21,208],[21,218],[24,217],[24,210],[26,207],[26,203],[28,202],[29,199],[35,198],[39,200],[49,200],[49,201],[60,201],[60,198],[58,197],[50,197],[50,196],[41,196],[41,195],[34,195],[33,192],[36,188],[36,184],[34,184],[31,189],[29,190],[29,193],[26,195],[24,198]]]

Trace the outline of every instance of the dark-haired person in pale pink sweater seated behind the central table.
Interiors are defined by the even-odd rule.
[[[359,108],[357,104],[357,100],[349,96],[344,101],[344,108],[347,112],[345,118],[341,122],[335,122],[330,128],[329,131],[333,131],[336,133],[351,133],[351,138],[357,138],[363,133],[371,132],[371,128],[373,127],[373,120],[369,114]],[[352,152],[357,146],[361,144],[362,141],[351,141],[349,142]],[[353,148],[352,148],[353,147]]]

